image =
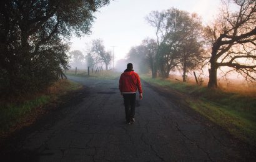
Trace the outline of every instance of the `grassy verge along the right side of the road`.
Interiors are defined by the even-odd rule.
[[[227,89],[209,89],[191,83],[151,79],[147,76],[142,76],[142,79],[157,87],[184,93],[185,100],[195,111],[222,126],[235,137],[256,145],[256,98],[251,93],[247,95]]]

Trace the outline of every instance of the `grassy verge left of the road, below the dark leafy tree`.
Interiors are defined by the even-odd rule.
[[[22,126],[31,124],[40,114],[46,112],[44,106],[81,87],[82,85],[69,80],[59,80],[44,92],[23,97],[22,100],[0,102],[0,136],[7,136]]]

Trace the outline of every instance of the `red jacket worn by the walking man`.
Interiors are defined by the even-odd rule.
[[[142,93],[139,75],[133,70],[125,70],[119,79],[120,92],[136,92],[137,88]]]

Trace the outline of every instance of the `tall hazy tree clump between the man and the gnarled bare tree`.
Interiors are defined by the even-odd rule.
[[[185,81],[186,72],[194,69],[194,64],[197,64],[202,56],[200,17],[197,14],[190,15],[189,12],[171,8],[161,12],[152,11],[146,20],[155,28],[157,37],[155,69],[159,69],[160,75],[165,78],[169,77],[170,70],[182,69]],[[155,72],[152,74],[155,77]]]

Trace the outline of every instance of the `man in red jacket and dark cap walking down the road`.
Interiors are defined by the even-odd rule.
[[[132,63],[127,64],[127,69],[121,74],[119,90],[124,97],[126,122],[128,124],[134,123],[136,92],[139,90],[139,98],[142,100],[142,87],[139,75],[134,72]]]

